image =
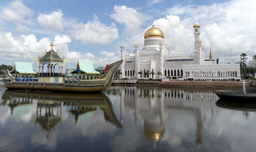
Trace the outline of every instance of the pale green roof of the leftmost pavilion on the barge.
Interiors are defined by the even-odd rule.
[[[10,73],[37,74],[33,70],[31,62],[15,62]]]

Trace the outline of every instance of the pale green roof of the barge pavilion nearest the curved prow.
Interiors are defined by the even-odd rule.
[[[92,61],[83,59],[78,59],[75,70],[70,73],[100,74],[100,72],[94,70]]]

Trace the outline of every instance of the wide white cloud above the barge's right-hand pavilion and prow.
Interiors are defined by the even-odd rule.
[[[114,23],[111,26],[102,24],[94,14],[94,20],[88,23],[78,23],[70,30],[76,40],[83,44],[103,45],[108,44],[118,38],[118,29]]]

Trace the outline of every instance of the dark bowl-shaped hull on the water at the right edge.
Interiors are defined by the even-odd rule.
[[[243,90],[216,90],[215,94],[225,101],[237,101],[237,102],[255,102],[256,91],[248,90],[244,93]]]

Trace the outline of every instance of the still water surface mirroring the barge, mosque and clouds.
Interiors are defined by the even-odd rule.
[[[68,94],[1,83],[0,95],[0,151],[256,148],[256,105],[218,101],[214,90],[113,86],[104,94]]]

